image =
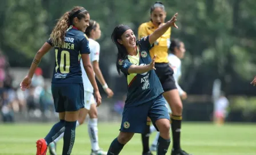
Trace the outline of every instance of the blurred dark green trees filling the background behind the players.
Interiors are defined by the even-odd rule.
[[[21,61],[17,61],[18,57],[22,54],[31,60],[49,37],[56,23],[55,19],[61,17],[65,11],[71,10],[73,6],[83,6],[89,11],[90,18],[101,25],[102,38],[99,43],[101,56],[105,58],[101,63],[109,66],[109,62],[115,61],[117,52],[110,38],[113,28],[125,23],[137,34],[138,26],[149,21],[150,6],[154,2],[155,0],[4,1],[0,6],[0,17],[3,19],[0,23],[0,34],[5,41],[0,43],[0,47],[9,58],[12,57],[12,66],[21,66]],[[166,21],[174,13],[179,13],[179,29],[173,28],[171,37],[183,40],[187,49],[181,81],[186,81],[186,85],[193,85],[203,79],[207,85],[200,89],[201,93],[206,93],[211,91],[209,83],[215,78],[224,80],[223,84],[227,85],[224,91],[233,90],[232,82],[235,79],[248,82],[253,78],[256,74],[256,1],[162,2],[167,12]],[[18,54],[17,58],[14,54]],[[54,61],[50,61],[53,56],[48,54],[46,59],[48,58],[49,61],[46,62],[51,62],[48,65],[53,65]]]

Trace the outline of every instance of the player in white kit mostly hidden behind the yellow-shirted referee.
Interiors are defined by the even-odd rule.
[[[171,53],[168,55],[168,60],[169,60],[169,65],[171,68],[173,68],[174,71],[174,79],[175,79],[175,84],[176,87],[178,88],[179,95],[181,96],[182,100],[187,99],[187,93],[183,91],[183,89],[179,86],[178,81],[181,78],[181,59],[184,57],[186,49],[185,49],[185,44],[181,42],[178,39],[173,39],[171,40],[171,45],[170,45],[170,51]],[[169,113],[171,115],[171,108],[169,104],[166,104],[166,107],[169,110]],[[150,133],[155,132],[156,129],[153,125],[150,126]],[[157,135],[155,136],[155,140],[153,141],[153,144],[151,145],[150,150],[151,151],[156,151],[157,150],[157,141],[159,137],[159,132],[157,132]]]

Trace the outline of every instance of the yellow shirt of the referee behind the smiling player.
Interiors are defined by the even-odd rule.
[[[153,34],[157,30],[157,27],[154,27],[153,23],[147,22],[142,23],[138,28],[138,37],[142,38]],[[155,59],[156,63],[168,63],[168,48],[170,46],[170,37],[171,37],[171,28],[169,28],[165,34],[157,39],[157,43],[154,43],[154,47],[150,50],[150,56],[153,58],[154,55],[157,55]]]

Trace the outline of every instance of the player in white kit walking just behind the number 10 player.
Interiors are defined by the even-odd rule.
[[[89,47],[90,47],[90,60],[93,64],[93,70],[96,78],[99,83],[102,84],[103,89],[107,93],[107,97],[112,97],[114,95],[113,91],[107,86],[105,79],[99,68],[99,43],[95,40],[101,37],[101,30],[99,24],[93,20],[90,20],[89,27],[86,28],[85,34],[89,37]],[[87,114],[89,113],[89,122],[88,122],[88,133],[91,141],[91,155],[105,155],[107,152],[104,152],[99,148],[98,143],[98,112],[93,96],[93,86],[90,84],[89,78],[87,77],[86,72],[83,70],[83,63],[81,60],[82,67],[82,78],[83,78],[83,88],[84,88],[84,101],[85,108],[81,109],[79,112],[79,119],[77,120],[77,126],[83,124],[86,119]],[[49,150],[51,155],[56,154],[56,142],[59,141],[63,135],[59,136],[51,142],[49,145]]]

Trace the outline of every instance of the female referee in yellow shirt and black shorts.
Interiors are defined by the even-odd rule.
[[[150,18],[151,20],[147,23],[142,23],[138,28],[139,38],[153,34],[158,27],[165,25],[166,11],[165,6],[161,2],[155,2],[150,8]],[[168,60],[168,48],[170,46],[170,35],[171,28],[169,28],[165,34],[159,37],[154,42],[154,47],[150,50],[150,56],[153,58],[157,55],[155,59],[155,73],[157,74],[162,87],[163,97],[165,97],[167,103],[169,103],[172,115],[171,115],[171,131],[173,133],[173,155],[175,154],[187,154],[181,149],[180,138],[181,138],[181,120],[182,120],[182,101],[179,97],[178,89],[175,85],[175,80],[173,77],[173,70],[169,66]],[[182,96],[186,96],[185,94]],[[143,143],[143,153],[149,152],[149,132],[150,132],[150,120],[147,119],[147,128],[145,133],[142,134]]]

